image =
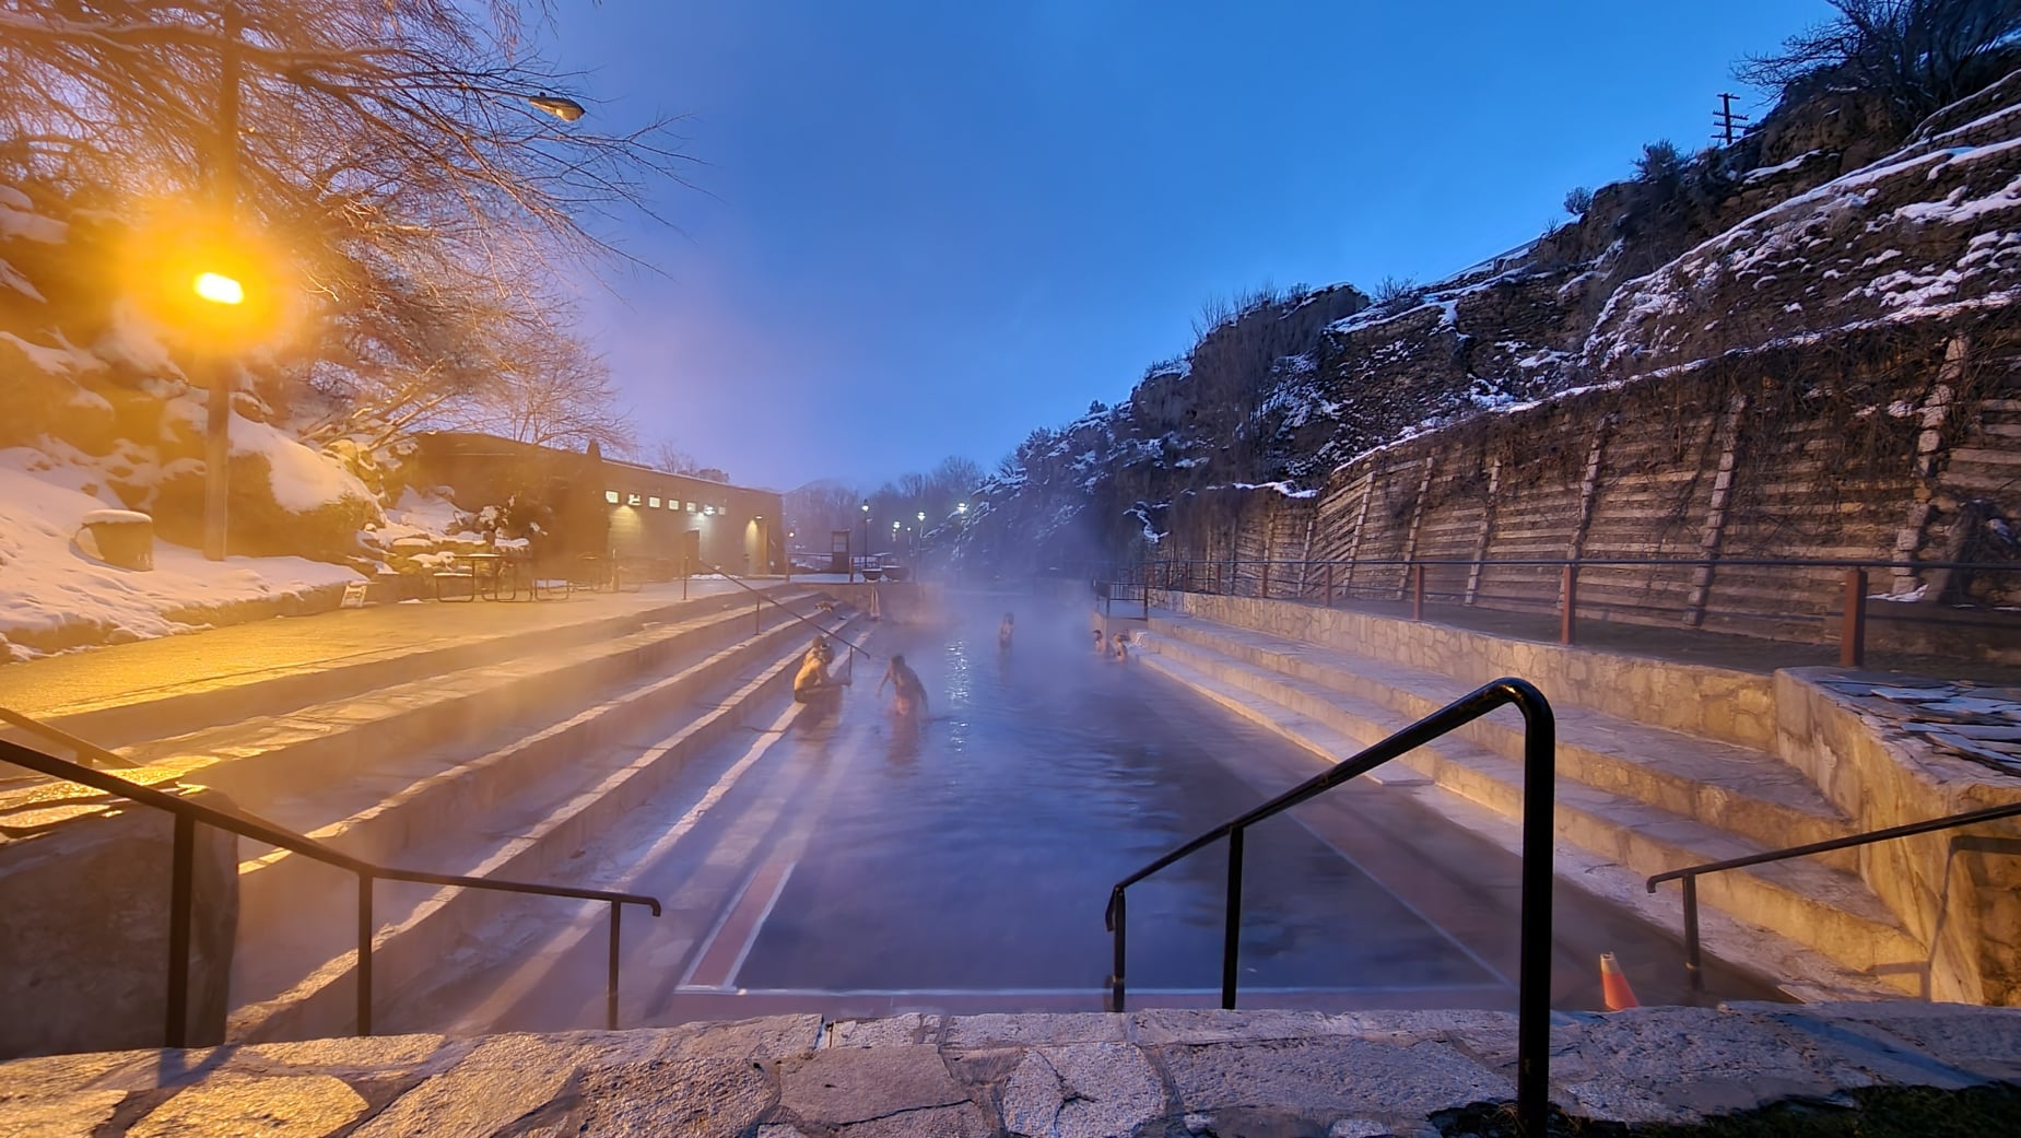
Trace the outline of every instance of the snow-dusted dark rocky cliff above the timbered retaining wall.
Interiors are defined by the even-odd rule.
[[[1954,336],[1972,352],[1952,396],[2013,398],[2021,75],[1904,141],[1878,129],[1873,107],[1829,91],[1605,186],[1576,220],[1445,281],[1261,295],[1128,402],[1035,431],[954,556],[1013,572],[1198,546],[1239,509],[1229,491],[1318,497],[1405,439],[1762,350],[1783,372],[1821,370],[1791,398],[1833,404],[1833,420],[1900,400],[1829,374],[1886,374],[1920,406]],[[1981,509],[2021,513],[2011,483],[2005,497]]]

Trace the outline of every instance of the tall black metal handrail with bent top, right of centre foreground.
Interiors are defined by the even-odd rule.
[[[1116,972],[1110,974],[1112,1011],[1124,1011],[1124,936],[1128,912],[1124,889],[1158,873],[1174,861],[1229,839],[1229,891],[1221,942],[1221,1007],[1235,1007],[1237,952],[1243,906],[1243,831],[1324,794],[1342,782],[1360,778],[1384,762],[1409,754],[1439,736],[1459,730],[1496,707],[1514,703],[1524,718],[1524,796],[1522,796],[1522,914],[1518,918],[1518,978],[1516,978],[1516,1122],[1530,1138],[1544,1138],[1550,1114],[1550,885],[1552,885],[1552,811],[1556,802],[1558,726],[1550,701],[1528,679],[1502,677],[1487,683],[1390,738],[1362,750],[1338,766],[1314,774],[1269,802],[1227,821],[1180,845],[1110,889],[1103,916],[1116,934]]]

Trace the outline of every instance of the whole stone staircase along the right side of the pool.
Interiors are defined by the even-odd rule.
[[[1338,762],[1465,695],[1473,685],[1338,643],[1310,643],[1229,623],[1150,612],[1148,667],[1229,712]],[[1584,851],[1576,883],[1744,857],[1853,833],[1849,819],[1778,756],[1647,726],[1546,691],[1558,718],[1556,829]],[[1370,778],[1457,796],[1494,815],[1522,809],[1520,722],[1489,716]],[[1437,798],[1437,796],[1435,796]],[[1675,889],[1675,887],[1671,887]],[[1639,891],[1639,887],[1637,887]],[[1825,964],[1785,986],[1805,997],[1916,994],[1928,952],[1853,873],[1849,855],[1793,859],[1700,879],[1700,899],[1740,922],[1754,944],[1781,940]],[[1708,932],[1708,944],[1720,942]],[[1793,980],[1791,976],[1768,976]]]

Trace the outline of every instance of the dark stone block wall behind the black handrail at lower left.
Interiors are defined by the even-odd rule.
[[[228,807],[210,790],[186,792]],[[0,798],[0,1057],[156,1047],[174,819],[57,782]],[[224,1039],[238,839],[196,827],[190,1039]],[[0,1132],[6,1126],[0,1124]]]

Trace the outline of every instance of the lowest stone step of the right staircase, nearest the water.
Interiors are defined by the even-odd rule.
[[[1263,724],[1330,762],[1380,742],[1409,726],[1413,716],[1223,655],[1176,637],[1146,637],[1142,661],[1200,691],[1225,707]],[[1332,734],[1306,736],[1310,720]],[[1338,750],[1340,742],[1350,746]],[[1441,790],[1487,807],[1502,817],[1522,813],[1522,768],[1459,736],[1445,736],[1399,762]],[[1625,865],[1637,875],[1700,865],[1764,847],[1623,794],[1560,774],[1556,780],[1556,831],[1578,845]],[[1916,970],[1926,956],[1888,908],[1851,873],[1805,861],[1718,873],[1700,881],[1700,899],[1724,914],[1772,930],[1817,950],[1841,966],[1898,990],[1918,990]]]

